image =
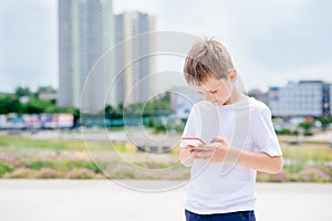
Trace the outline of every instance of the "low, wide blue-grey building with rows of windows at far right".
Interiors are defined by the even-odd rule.
[[[273,116],[321,116],[330,113],[331,85],[323,81],[290,82],[270,87],[268,104]]]

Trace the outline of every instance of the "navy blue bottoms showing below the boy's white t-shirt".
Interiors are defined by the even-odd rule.
[[[230,213],[216,214],[196,214],[188,210],[186,212],[186,221],[256,221],[253,211],[241,211]]]

